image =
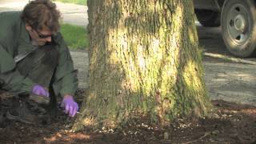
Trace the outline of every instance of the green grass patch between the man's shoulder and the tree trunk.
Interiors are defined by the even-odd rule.
[[[85,50],[89,46],[87,30],[82,26],[62,24],[61,33],[70,49]]]

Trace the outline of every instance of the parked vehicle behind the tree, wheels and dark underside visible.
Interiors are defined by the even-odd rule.
[[[256,48],[256,0],[194,0],[202,26],[221,26],[222,38],[231,54],[254,56]]]

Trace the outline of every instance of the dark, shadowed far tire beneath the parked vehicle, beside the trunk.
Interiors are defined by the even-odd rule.
[[[198,22],[205,27],[218,27],[220,25],[220,13],[213,10],[194,10]]]

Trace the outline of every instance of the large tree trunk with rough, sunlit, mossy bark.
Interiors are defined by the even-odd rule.
[[[193,1],[88,0],[88,9],[90,86],[76,128],[207,113]]]

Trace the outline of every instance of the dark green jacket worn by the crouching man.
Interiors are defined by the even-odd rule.
[[[14,57],[32,50],[30,37],[20,12],[0,13],[0,79],[3,89],[14,93],[29,92],[34,86],[30,78],[24,78],[15,69]],[[78,87],[78,79],[74,70],[70,51],[62,38],[62,34],[54,35],[59,52],[58,66],[54,74],[54,93],[74,95]]]

